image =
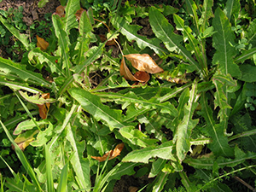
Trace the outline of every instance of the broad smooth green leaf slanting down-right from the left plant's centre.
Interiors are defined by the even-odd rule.
[[[110,131],[113,131],[114,128],[125,126],[122,121],[122,111],[110,109],[108,106],[103,105],[98,96],[79,88],[72,88],[68,92],[80,103],[84,110],[92,114],[97,120],[104,120],[108,124]]]

